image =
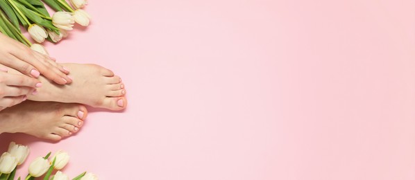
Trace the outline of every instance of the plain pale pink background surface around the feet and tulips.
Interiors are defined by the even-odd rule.
[[[96,111],[29,161],[100,179],[415,179],[415,1],[90,1],[60,62],[120,75]],[[19,169],[26,175],[28,161]]]

